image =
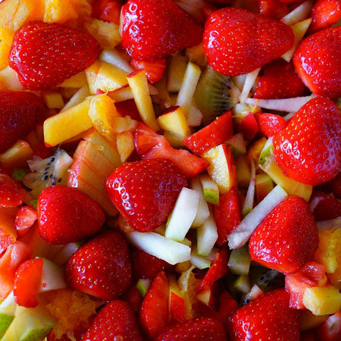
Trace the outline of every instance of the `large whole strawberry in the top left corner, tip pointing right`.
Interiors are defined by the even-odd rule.
[[[58,23],[31,21],[16,32],[9,65],[26,89],[50,89],[85,70],[99,52],[89,33]]]

